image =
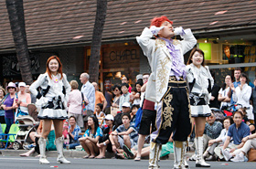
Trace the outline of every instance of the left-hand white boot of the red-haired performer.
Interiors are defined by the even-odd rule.
[[[150,143],[150,151],[149,151],[149,169],[158,169],[158,156],[160,153],[160,143]]]

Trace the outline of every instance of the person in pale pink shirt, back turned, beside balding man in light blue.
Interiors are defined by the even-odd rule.
[[[84,95],[84,100],[88,102],[84,93],[78,90],[79,83],[76,80],[70,81],[71,92],[69,93],[69,101],[68,101],[68,112],[69,117],[74,116],[76,118],[76,123],[83,127],[83,120],[81,114],[81,103],[82,103],[82,94]]]

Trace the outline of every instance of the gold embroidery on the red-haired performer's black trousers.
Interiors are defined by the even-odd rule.
[[[175,109],[172,107],[171,105],[171,101],[173,100],[173,95],[168,93],[168,95],[165,97],[165,99],[163,100],[165,102],[165,109],[163,111],[163,116],[165,118],[165,122],[163,123],[163,129],[166,130],[166,127],[171,127],[172,125],[172,115]]]

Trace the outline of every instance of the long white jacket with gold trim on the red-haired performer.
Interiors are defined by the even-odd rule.
[[[197,44],[197,39],[193,36],[190,29],[185,30],[186,35],[182,36],[184,40],[174,40],[174,46],[181,52],[183,56],[187,51]],[[138,44],[144,51],[144,55],[148,58],[152,73],[148,79],[145,90],[145,99],[154,102],[162,100],[168,86],[169,74],[172,66],[172,56],[165,46],[165,40],[153,37],[148,27],[140,37],[136,37]],[[184,58],[181,58],[184,61]]]

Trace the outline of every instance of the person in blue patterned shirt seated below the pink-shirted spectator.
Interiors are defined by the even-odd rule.
[[[69,117],[69,145],[68,149],[75,149],[76,146],[80,145],[80,126],[77,124],[77,120],[74,116]]]

